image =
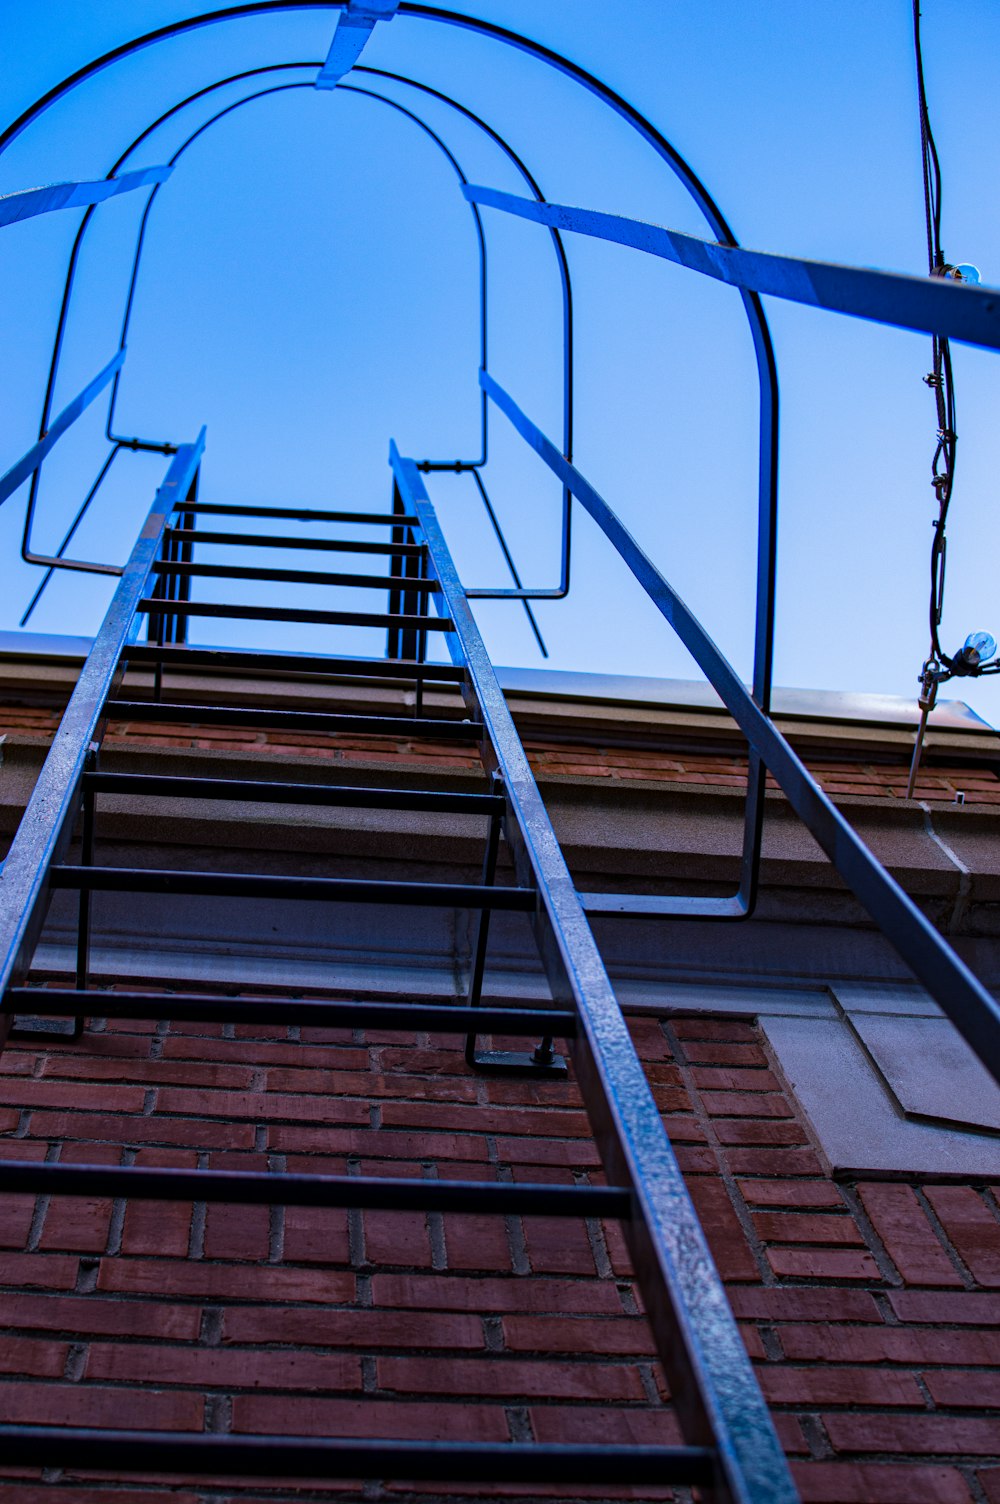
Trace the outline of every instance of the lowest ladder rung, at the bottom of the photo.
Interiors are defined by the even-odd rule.
[[[212,1477],[696,1486],[711,1484],[716,1474],[714,1453],[708,1447],[353,1441],[71,1426],[0,1426],[0,1445],[5,1462],[17,1466]]]

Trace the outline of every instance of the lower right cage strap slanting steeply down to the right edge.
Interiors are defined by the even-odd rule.
[[[923,982],[983,1065],[1000,1080],[1000,1008],[989,993],[827,799],[774,722],[747,693],[738,674],[702,624],[644,553],[603,496],[573,465],[562,459],[555,444],[531,418],[525,417],[502,387],[489,376],[484,378],[484,384],[489,396],[535,454],[573,489],[573,495],[583,504],[650,600],[674,627],[758,758],[767,764],[789,805],[827,853],[844,881],[868,908],[913,975]]]

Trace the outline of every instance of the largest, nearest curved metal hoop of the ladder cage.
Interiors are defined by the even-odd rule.
[[[200,17],[188,17],[170,26],[147,32],[144,36],[104,53],[101,57],[77,69],[62,83],[56,84],[41,99],[30,105],[23,114],[0,134],[0,155],[11,141],[48,110],[57,99],[63,98],[77,84],[95,74],[110,68],[113,63],[135,54],[156,42],[186,32],[198,30],[205,26],[215,26],[223,21],[244,20],[256,15],[268,15],[277,11],[343,11],[346,0],[251,0],[251,3],[232,6],[224,11],[205,12]],[[402,0],[397,15],[409,15],[427,21],[439,21],[469,30],[493,41],[504,42],[517,51],[547,63],[556,72],[580,84],[603,104],[609,105],[627,125],[630,125],[648,146],[669,167],[674,176],[692,196],[713,233],[726,245],[737,245],[737,239],[729,229],[722,211],[701,182],[698,174],[681,156],[681,153],[657,131],[635,105],[629,104],[620,93],[595,78],[585,68],[570,62],[562,54],[534,42],[531,38],[511,32],[507,27],[495,26],[478,17],[460,15],[454,11],[442,11],[438,6],[415,5],[412,0]],[[779,391],[777,365],[774,361],[774,346],[764,313],[764,305],[756,293],[740,292],[743,307],[750,325],[753,352],[759,384],[759,439],[758,439],[758,547],[756,547],[756,620],[753,633],[753,701],[765,713],[770,710],[773,657],[774,657],[774,587],[777,569],[777,418]],[[762,821],[764,821],[764,782],[765,769],[759,755],[749,752],[747,799],[744,820],[743,859],[740,869],[740,886],[726,908],[729,917],[740,919],[752,913],[756,901],[758,869],[761,854]]]

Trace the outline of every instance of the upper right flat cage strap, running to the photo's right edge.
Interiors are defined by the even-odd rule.
[[[729,287],[826,308],[829,313],[847,313],[895,329],[917,329],[988,350],[1000,349],[1000,295],[991,287],[974,287],[946,277],[910,277],[869,266],[839,266],[803,256],[744,251],[738,245],[702,241],[642,220],[626,220],[595,209],[571,209],[562,203],[532,203],[529,199],[478,185],[463,188],[463,193],[471,203],[502,209],[504,214],[535,224],[558,226],[561,230],[627,245],[701,272],[702,277],[713,277]]]

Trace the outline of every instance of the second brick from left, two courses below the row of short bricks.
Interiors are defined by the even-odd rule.
[[[388,1275],[391,1278],[391,1275]],[[301,1310],[235,1305],[226,1311],[226,1343],[290,1343],[310,1348],[484,1348],[483,1322],[465,1313],[426,1310]]]

